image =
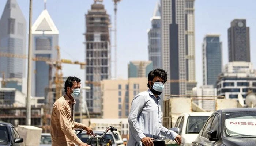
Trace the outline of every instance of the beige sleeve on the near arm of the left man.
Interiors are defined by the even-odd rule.
[[[65,111],[65,104],[59,103],[56,105],[56,115],[60,121],[60,128],[64,132],[64,134],[73,141],[76,145],[82,143],[81,139],[77,137],[75,132],[72,130],[71,125],[68,122],[66,111]]]

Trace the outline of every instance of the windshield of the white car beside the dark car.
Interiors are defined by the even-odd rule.
[[[209,116],[189,116],[186,134],[199,133]]]

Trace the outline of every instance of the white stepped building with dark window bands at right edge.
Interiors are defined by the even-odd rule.
[[[248,91],[256,92],[256,75],[250,62],[229,62],[217,81],[217,95],[226,99],[237,99],[241,94],[245,100]]]

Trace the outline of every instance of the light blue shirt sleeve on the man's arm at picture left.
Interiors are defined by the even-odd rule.
[[[131,110],[128,116],[129,126],[133,137],[139,142],[142,138],[146,137],[141,130],[138,123],[138,116],[142,112],[145,103],[145,97],[143,95],[136,96],[131,105]]]

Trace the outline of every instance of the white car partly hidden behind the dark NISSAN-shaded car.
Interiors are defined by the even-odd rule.
[[[204,123],[212,112],[187,112],[178,116],[171,130],[182,137],[181,146],[190,146],[195,141]]]

